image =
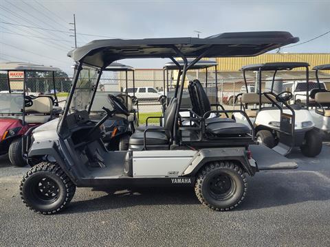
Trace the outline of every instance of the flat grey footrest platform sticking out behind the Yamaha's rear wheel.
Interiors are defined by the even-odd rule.
[[[296,162],[289,160],[285,156],[278,154],[265,145],[250,145],[252,156],[258,165],[259,171],[273,171],[283,169],[296,169]]]

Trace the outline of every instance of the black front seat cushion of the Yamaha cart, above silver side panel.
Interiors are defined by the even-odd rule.
[[[135,132],[129,139],[130,145],[143,145],[144,132]],[[162,145],[168,144],[168,138],[165,133],[148,131],[146,132],[146,144]]]

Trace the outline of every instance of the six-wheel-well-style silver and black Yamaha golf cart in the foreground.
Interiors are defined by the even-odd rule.
[[[190,186],[210,209],[234,209],[247,193],[246,174],[295,169],[297,165],[263,145],[254,145],[254,131],[250,134],[244,124],[232,119],[208,120],[213,112],[246,114],[241,110],[208,110],[210,102],[198,80],[189,83],[192,109],[198,113],[190,109],[192,117],[179,117],[186,72],[203,57],[256,56],[296,42],[298,38],[288,32],[241,32],[209,38],[95,40],[74,49],[69,52],[76,62],[74,82],[64,113],[57,127],[36,128],[32,134],[29,158],[39,157],[42,162],[21,181],[23,202],[36,212],[51,214],[69,204],[76,187]],[[104,108],[107,116],[95,124],[86,109],[93,104],[98,74],[114,60],[124,58],[182,58],[184,68],[177,97],[171,99],[164,113],[164,127],[133,133],[128,151],[109,151],[102,143],[100,126],[114,113],[129,112],[117,97],[109,97],[113,110]],[[187,58],[195,59],[188,62]],[[87,64],[94,68],[94,79],[85,82],[81,75]],[[70,106],[78,95],[85,100],[81,110],[72,111]],[[182,126],[184,120],[195,125]]]

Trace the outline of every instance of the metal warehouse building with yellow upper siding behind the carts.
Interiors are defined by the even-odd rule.
[[[213,59],[212,59],[213,60]],[[243,74],[239,69],[246,64],[256,64],[264,62],[308,62],[311,66],[311,70],[318,64],[330,63],[330,54],[287,54],[287,53],[268,53],[255,57],[246,58],[217,58],[218,62],[218,83],[219,88],[222,91],[236,91],[243,85]],[[164,60],[165,63],[165,60]],[[201,73],[203,72],[203,73]],[[327,73],[325,73],[327,72]],[[163,89],[163,69],[135,69],[135,86],[153,86],[156,89]],[[125,73],[120,72],[117,75],[116,84],[118,89],[124,89],[125,87]],[[272,73],[263,73],[263,80],[266,80],[272,76]],[[276,76],[283,78],[283,80],[304,80],[304,69],[294,69],[294,71],[282,71],[278,72]],[[177,77],[177,71],[169,73],[169,78],[173,80],[175,84],[175,78]],[[199,79],[201,82],[205,81],[205,71],[189,71],[187,74],[186,82],[189,80]],[[132,75],[128,73],[129,86],[133,86]],[[214,67],[208,69],[208,82],[214,82],[215,73]],[[249,82],[254,82],[256,73],[248,72],[247,78]],[[315,80],[314,71],[309,74],[311,80]],[[330,89],[330,71],[324,71],[320,73],[320,79],[327,84],[327,88]],[[120,83],[118,83],[120,82]]]

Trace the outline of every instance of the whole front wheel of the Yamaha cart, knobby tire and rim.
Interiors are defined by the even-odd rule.
[[[46,215],[67,207],[76,185],[56,163],[42,162],[25,174],[19,189],[26,207]]]

